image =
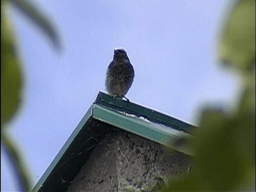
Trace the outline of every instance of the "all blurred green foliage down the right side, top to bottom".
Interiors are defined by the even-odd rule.
[[[220,38],[219,57],[240,74],[238,109],[203,110],[200,129],[186,143],[195,150],[193,171],[165,191],[255,190],[255,0],[236,2]]]

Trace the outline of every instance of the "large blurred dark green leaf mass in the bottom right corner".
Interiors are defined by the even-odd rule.
[[[192,172],[166,191],[238,191],[253,188],[255,180],[255,115],[230,117],[206,109],[191,141],[196,150]],[[249,130],[249,131],[248,131]],[[253,136],[252,136],[253,134]],[[254,139],[254,140],[253,140]],[[249,147],[249,149],[248,149]]]

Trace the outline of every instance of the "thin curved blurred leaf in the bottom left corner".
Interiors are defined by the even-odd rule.
[[[15,147],[16,145],[13,143],[13,140],[10,139],[9,136],[6,135],[6,132],[1,130],[1,142],[3,144],[3,148],[6,152],[8,160],[13,165],[15,175],[17,177],[17,182],[20,185],[20,189],[22,191],[30,191],[31,190],[31,179],[28,174],[28,169],[24,166],[24,161],[22,160],[22,156],[19,153],[19,149]],[[2,153],[2,152],[1,152]]]

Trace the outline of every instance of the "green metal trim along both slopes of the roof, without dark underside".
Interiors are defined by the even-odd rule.
[[[44,182],[50,176],[66,150],[68,150],[68,147],[74,138],[76,138],[78,133],[91,117],[165,146],[169,146],[185,154],[193,155],[190,149],[182,145],[175,145],[175,142],[180,138],[191,137],[192,135],[187,132],[196,128],[195,126],[134,103],[130,103],[129,106],[127,106],[127,101],[120,98],[116,98],[114,101],[112,101],[111,98],[113,97],[102,92],[98,93],[95,102],[90,106],[86,114],[80,120],[75,130],[65,142],[64,146],[62,146],[54,160],[52,160],[51,164],[38,180],[32,191],[38,191],[43,186]],[[110,100],[110,102],[106,102],[106,100]],[[132,109],[136,109],[136,112],[131,111]],[[139,112],[142,113],[140,114]],[[157,123],[152,121],[152,116],[157,118]],[[168,123],[168,117],[170,123]],[[150,120],[148,120],[148,118],[150,118]],[[161,124],[159,122],[163,122],[165,124]],[[179,125],[182,125],[181,130],[177,129],[177,127],[179,128]]]

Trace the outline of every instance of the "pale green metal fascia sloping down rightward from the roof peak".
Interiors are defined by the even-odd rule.
[[[92,117],[173,148],[174,150],[183,152],[184,154],[193,156],[193,153],[189,148],[176,144],[180,138],[192,137],[191,134],[186,132],[182,132],[171,127],[167,128],[161,124],[156,124],[145,120],[144,118],[138,118],[134,115],[126,114],[125,112],[116,112],[116,110],[105,108],[105,106],[98,104],[93,104]]]

